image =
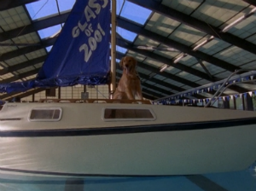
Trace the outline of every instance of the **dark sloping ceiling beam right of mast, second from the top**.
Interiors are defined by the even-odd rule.
[[[157,33],[150,32],[150,31],[144,29],[142,26],[139,26],[132,21],[125,20],[124,18],[118,18],[117,22],[118,22],[118,26],[120,26],[128,31],[135,32],[138,35],[142,35],[143,37],[146,37],[148,39],[152,39],[156,42],[165,44],[168,47],[178,49],[183,53],[187,53],[188,55],[192,55],[195,58],[199,58],[203,61],[207,61],[207,62],[211,63],[212,65],[223,68],[224,70],[234,72],[234,71],[240,69],[240,67],[231,65],[230,63],[228,63],[226,61],[222,61],[212,55],[207,55],[200,51],[193,51],[189,46],[186,46],[183,43],[178,43],[170,38],[165,38]]]

